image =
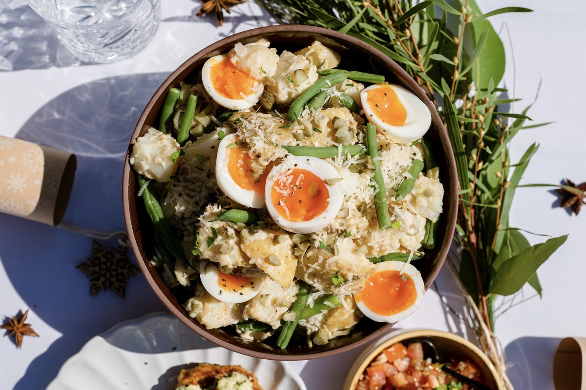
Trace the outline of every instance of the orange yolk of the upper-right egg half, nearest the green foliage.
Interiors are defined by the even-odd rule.
[[[407,110],[390,85],[370,89],[366,92],[366,102],[374,116],[387,125],[403,126],[405,124]]]

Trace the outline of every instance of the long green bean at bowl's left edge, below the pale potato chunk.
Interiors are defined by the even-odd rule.
[[[142,188],[146,182],[147,180],[144,177],[138,175],[139,187]],[[142,202],[144,202],[145,205],[145,209],[147,209],[147,214],[151,219],[152,225],[155,227],[155,234],[159,235],[167,250],[175,258],[180,258],[186,262],[187,259],[185,257],[185,253],[183,252],[183,247],[181,246],[177,234],[175,234],[173,228],[169,224],[169,221],[163,215],[161,203],[159,203],[159,199],[156,195],[152,181],[149,182],[147,187],[144,188],[141,196]]]

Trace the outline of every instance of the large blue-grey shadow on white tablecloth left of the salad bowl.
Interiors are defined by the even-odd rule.
[[[64,223],[103,232],[125,230],[121,189],[128,141],[166,76],[127,75],[80,85],[40,108],[18,132],[19,139],[77,155]],[[110,244],[115,245],[115,240]],[[90,296],[86,275],[75,268],[90,254],[89,237],[0,214],[2,267],[32,309],[29,323],[36,316],[62,334],[32,361],[15,390],[45,388],[64,361],[96,333],[122,320],[165,310],[142,275],[130,279],[124,299],[113,292]],[[27,342],[35,339],[27,338]]]

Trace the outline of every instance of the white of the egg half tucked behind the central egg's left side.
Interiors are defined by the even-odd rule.
[[[216,157],[216,180],[218,187],[234,202],[254,209],[263,208],[264,194],[258,194],[258,192],[251,189],[240,187],[234,182],[228,171],[228,149],[226,147],[237,140],[237,134],[229,134],[224,136],[218,145],[218,154]]]

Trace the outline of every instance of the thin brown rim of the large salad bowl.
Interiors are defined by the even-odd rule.
[[[176,306],[173,305],[173,303],[169,300],[169,298],[165,295],[165,293],[163,291],[161,291],[161,289],[159,289],[158,285],[155,282],[155,279],[152,277],[151,272],[149,271],[149,267],[147,265],[147,263],[149,263],[149,262],[144,261],[144,260],[140,260],[140,261],[138,260],[142,256],[140,256],[141,251],[138,247],[138,243],[137,243],[137,240],[135,239],[135,235],[133,234],[135,226],[132,225],[132,216],[130,215],[130,198],[134,197],[134,194],[129,194],[127,189],[129,188],[129,185],[130,185],[130,176],[131,176],[131,168],[130,168],[130,162],[129,162],[130,151],[131,151],[132,146],[134,145],[134,141],[138,137],[139,132],[145,126],[145,122],[146,122],[146,119],[149,115],[149,112],[152,111],[152,109],[154,108],[154,106],[156,105],[158,100],[161,99],[163,94],[166,91],[168,91],[168,89],[171,88],[171,85],[173,84],[173,82],[176,81],[180,75],[183,74],[185,77],[185,75],[190,73],[190,71],[191,71],[190,67],[192,67],[193,63],[195,63],[200,58],[209,55],[213,51],[220,49],[220,47],[223,47],[226,44],[240,42],[240,40],[247,39],[247,38],[250,38],[251,36],[257,36],[257,35],[261,35],[261,34],[267,35],[267,34],[271,34],[271,33],[278,34],[278,33],[294,33],[294,32],[312,33],[312,34],[315,34],[318,36],[321,35],[321,36],[328,37],[330,39],[335,40],[336,42],[349,43],[353,46],[362,47],[365,51],[369,51],[373,57],[377,57],[382,63],[384,63],[384,65],[390,71],[393,71],[393,73],[396,74],[396,78],[398,80],[401,80],[401,82],[404,82],[405,84],[407,84],[408,87],[410,87],[411,90],[430,109],[431,116],[432,116],[432,123],[434,123],[434,125],[437,127],[437,130],[438,130],[437,136],[440,139],[441,146],[445,151],[445,157],[447,160],[447,166],[445,168],[447,171],[451,172],[451,174],[448,177],[448,180],[445,182],[442,182],[442,184],[444,185],[444,188],[449,187],[449,189],[450,189],[449,193],[452,194],[452,199],[447,199],[448,202],[451,201],[451,204],[444,204],[444,212],[442,212],[442,218],[445,218],[445,220],[446,220],[447,230],[444,232],[445,234],[444,234],[443,239],[441,241],[441,247],[437,252],[437,256],[436,256],[438,259],[437,267],[433,268],[430,271],[430,275],[428,276],[427,281],[425,282],[425,289],[428,289],[430,287],[432,281],[434,281],[434,279],[437,277],[437,275],[440,272],[440,269],[445,261],[445,258],[448,255],[450,243],[451,243],[452,238],[454,236],[454,231],[455,231],[455,226],[456,226],[457,207],[458,207],[458,196],[457,196],[457,194],[458,194],[458,178],[457,178],[457,174],[456,174],[455,157],[454,157],[454,153],[452,151],[451,143],[449,141],[447,129],[445,128],[445,125],[442,122],[440,115],[437,112],[437,109],[435,108],[433,103],[430,101],[430,99],[427,97],[427,95],[425,95],[423,88],[421,88],[417,84],[417,82],[415,82],[413,77],[411,77],[407,73],[407,71],[405,71],[401,67],[401,65],[396,63],[396,61],[392,60],[390,57],[388,57],[382,51],[376,49],[373,46],[370,46],[367,43],[362,42],[362,40],[357,39],[355,37],[352,37],[350,35],[347,35],[345,33],[340,33],[336,30],[331,30],[331,29],[326,29],[324,27],[316,27],[316,26],[274,25],[274,26],[257,27],[254,29],[246,30],[246,31],[243,31],[240,33],[236,33],[236,34],[232,34],[230,36],[224,37],[223,39],[218,40],[217,42],[214,42],[214,43],[210,44],[209,46],[206,46],[202,50],[198,51],[197,53],[193,54],[193,56],[189,57],[188,60],[183,62],[181,65],[179,65],[179,67],[176,68],[165,79],[165,81],[162,82],[161,86],[152,95],[151,99],[149,100],[149,102],[145,106],[144,111],[142,112],[141,116],[139,117],[137,125],[135,126],[134,131],[132,132],[132,135],[131,135],[131,138],[129,141],[128,150],[127,150],[126,157],[124,160],[124,171],[123,171],[123,177],[122,177],[122,208],[123,208],[123,212],[124,212],[125,226],[126,226],[126,229],[128,232],[128,239],[130,241],[130,246],[132,248],[132,252],[135,254],[135,257],[137,258],[137,263],[138,263],[139,267],[141,268],[142,274],[147,279],[149,286],[155,292],[156,296],[163,303],[163,305],[165,305],[165,307],[171,313],[173,313],[173,315],[178,317],[178,319],[183,324],[188,326],[190,329],[195,331],[200,336],[205,337],[207,340],[210,340],[213,343],[215,343],[219,346],[222,346],[224,348],[227,348],[231,351],[241,353],[241,354],[246,354],[248,356],[268,358],[268,359],[273,359],[273,360],[308,360],[308,359],[322,358],[322,357],[328,357],[328,356],[340,354],[340,353],[343,353],[343,352],[346,352],[349,350],[353,350],[354,348],[364,346],[364,345],[372,342],[373,340],[376,340],[377,338],[381,337],[383,334],[389,332],[392,329],[392,327],[394,326],[394,324],[391,324],[391,323],[384,324],[383,326],[379,327],[379,329],[374,330],[374,332],[368,334],[367,336],[363,337],[362,339],[353,341],[353,342],[346,344],[344,346],[336,347],[336,348],[333,348],[331,350],[326,350],[326,351],[308,352],[308,353],[299,353],[299,354],[277,354],[277,353],[273,353],[272,351],[250,350],[250,349],[244,347],[243,344],[241,344],[241,345],[233,344],[233,343],[230,343],[229,341],[220,339],[219,337],[216,337],[213,334],[210,334],[209,332],[206,332],[206,330],[198,327],[195,324],[195,319],[192,319],[191,317],[189,317],[187,315],[187,313],[185,312],[185,310],[179,310],[178,308],[176,308]]]

